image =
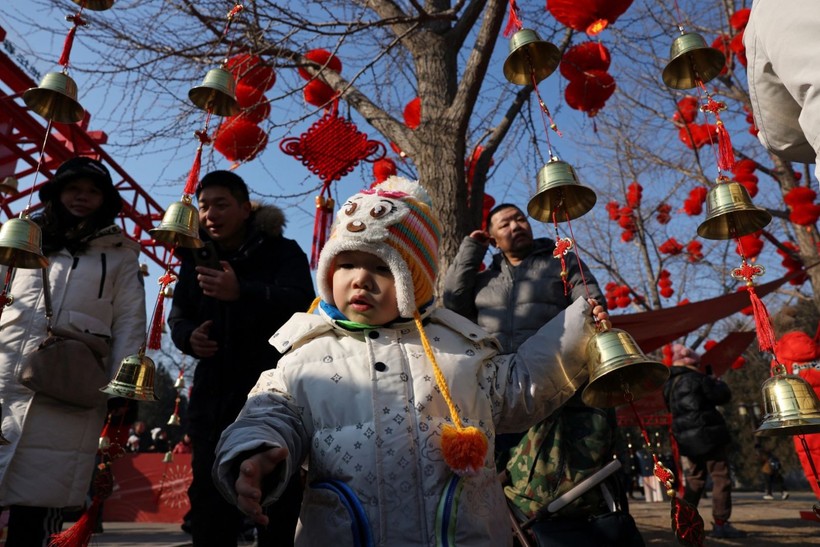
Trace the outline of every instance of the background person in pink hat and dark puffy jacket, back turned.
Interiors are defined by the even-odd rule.
[[[732,515],[732,479],[726,447],[729,428],[716,408],[732,398],[729,386],[700,372],[700,356],[681,344],[672,346],[672,369],[663,388],[666,406],[672,413],[672,433],[684,456],[686,492],[684,499],[698,505],[712,477],[713,537],[737,538],[746,534],[729,523]]]

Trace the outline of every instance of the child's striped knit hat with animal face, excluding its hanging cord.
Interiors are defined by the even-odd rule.
[[[441,234],[430,197],[417,182],[390,177],[351,196],[339,209],[322,249],[316,280],[325,302],[334,304],[333,260],[342,251],[381,258],[393,273],[402,317],[433,298]]]

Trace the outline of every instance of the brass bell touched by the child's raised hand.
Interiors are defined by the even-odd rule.
[[[669,378],[663,363],[647,357],[628,332],[610,328],[595,334],[587,347],[589,383],[581,394],[587,406],[614,407],[640,399]]]

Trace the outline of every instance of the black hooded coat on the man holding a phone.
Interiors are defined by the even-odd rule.
[[[168,316],[174,344],[193,357],[198,356],[191,349],[191,333],[208,319],[214,322],[210,337],[219,350],[198,362],[188,406],[190,435],[214,443],[233,423],[262,371],[276,366],[280,354],[268,339],[291,315],[306,311],[314,296],[307,256],[295,241],[282,237],[282,211],[265,205],[248,222],[248,235],[239,250],[219,253],[239,279],[239,300],[222,302],[204,296],[193,256],[183,250]]]

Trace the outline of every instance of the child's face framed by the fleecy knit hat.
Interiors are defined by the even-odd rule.
[[[381,258],[370,253],[336,255],[333,300],[345,317],[357,323],[384,325],[399,317],[393,274]]]

